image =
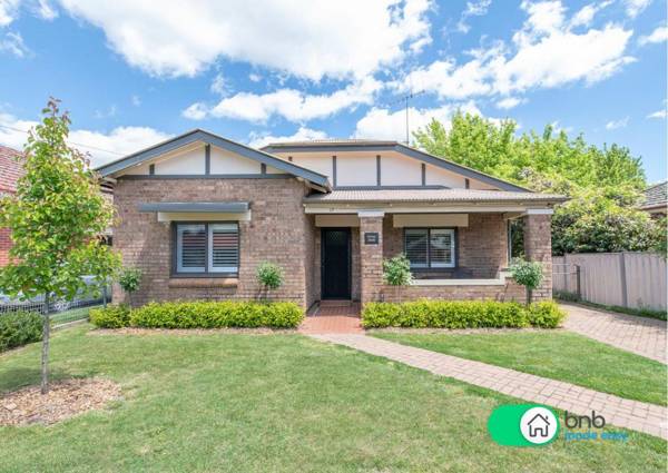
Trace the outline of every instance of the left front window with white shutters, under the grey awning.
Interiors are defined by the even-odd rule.
[[[176,273],[236,275],[237,224],[176,224]]]

